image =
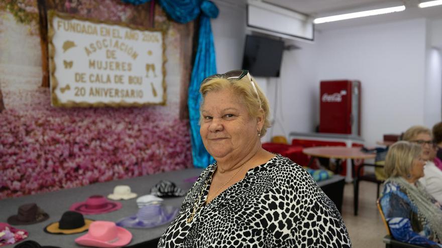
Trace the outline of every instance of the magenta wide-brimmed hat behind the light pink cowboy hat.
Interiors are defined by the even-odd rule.
[[[118,210],[121,206],[120,202],[110,201],[102,195],[92,195],[86,201],[75,202],[69,210],[82,214],[100,214]]]

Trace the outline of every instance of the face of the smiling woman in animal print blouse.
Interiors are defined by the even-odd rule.
[[[216,160],[244,156],[260,140],[263,118],[250,117],[243,101],[230,89],[208,92],[201,117],[202,142]]]

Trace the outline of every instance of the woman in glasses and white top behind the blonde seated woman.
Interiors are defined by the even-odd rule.
[[[424,126],[412,126],[405,131],[402,139],[422,147],[422,159],[427,162],[423,170],[424,175],[419,181],[429,194],[442,203],[442,170],[432,161],[435,154],[431,131]]]

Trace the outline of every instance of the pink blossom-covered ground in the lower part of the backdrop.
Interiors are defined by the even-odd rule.
[[[4,97],[40,100],[0,113],[0,199],[191,167],[188,121],[168,114],[177,106],[56,109],[49,89]]]

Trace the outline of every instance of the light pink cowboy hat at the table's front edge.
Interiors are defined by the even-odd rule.
[[[121,247],[130,243],[132,233],[112,221],[96,220],[89,226],[89,231],[75,239],[81,245],[94,247]]]

